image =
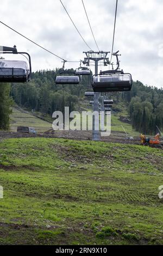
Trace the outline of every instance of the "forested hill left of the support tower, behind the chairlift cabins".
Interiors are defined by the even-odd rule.
[[[42,115],[52,116],[54,111],[64,113],[65,106],[70,107],[70,112],[73,111],[88,88],[87,84],[91,84],[91,76],[82,77],[82,81],[76,86],[57,85],[55,76],[59,71],[58,69],[36,71],[28,84],[12,84],[11,96],[18,105],[39,111]]]

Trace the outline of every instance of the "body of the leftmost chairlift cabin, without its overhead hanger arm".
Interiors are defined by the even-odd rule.
[[[28,82],[29,70],[21,60],[0,60],[0,82]]]

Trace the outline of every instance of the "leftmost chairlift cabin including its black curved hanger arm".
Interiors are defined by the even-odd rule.
[[[30,55],[27,52],[17,52],[16,46],[0,46],[0,54],[26,54],[28,63],[22,60],[0,59],[0,82],[24,83],[30,80],[32,73]]]

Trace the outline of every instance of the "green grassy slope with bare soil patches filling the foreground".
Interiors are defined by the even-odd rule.
[[[162,150],[8,139],[0,144],[0,244],[162,244]]]

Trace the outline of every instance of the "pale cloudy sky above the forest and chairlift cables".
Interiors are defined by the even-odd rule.
[[[62,2],[87,44],[96,51],[82,1]],[[84,0],[84,3],[100,50],[111,51],[116,0]],[[64,59],[84,59],[83,51],[89,51],[59,0],[5,0],[0,12],[2,22]],[[0,33],[1,45],[16,45],[18,51],[30,53],[33,71],[62,65],[60,59],[1,23]],[[162,0],[118,0],[114,51],[117,50],[122,54],[121,69],[130,72],[133,80],[163,87]],[[79,63],[66,63],[66,68],[78,66]]]

